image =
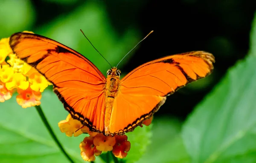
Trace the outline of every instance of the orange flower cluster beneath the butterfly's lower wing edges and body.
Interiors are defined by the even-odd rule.
[[[145,120],[143,124],[148,126],[152,121],[152,117]],[[66,120],[58,123],[61,132],[67,136],[79,136],[82,133],[89,134],[80,143],[81,157],[85,161],[94,161],[95,156],[99,156],[102,152],[112,151],[114,156],[124,158],[131,148],[131,143],[126,135],[105,136],[102,133],[90,132],[88,127],[83,126],[79,120],[75,120],[69,114]]]

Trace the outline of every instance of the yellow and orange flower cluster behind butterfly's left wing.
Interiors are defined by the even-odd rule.
[[[13,54],[9,38],[0,40],[0,102],[17,92],[17,103],[23,108],[40,105],[41,92],[49,84],[37,70]]]

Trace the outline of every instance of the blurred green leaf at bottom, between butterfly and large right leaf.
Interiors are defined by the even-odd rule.
[[[189,163],[180,127],[180,121],[171,117],[154,119],[152,143],[137,163]]]

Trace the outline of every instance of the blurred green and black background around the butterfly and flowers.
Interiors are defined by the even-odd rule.
[[[133,149],[124,161],[256,163],[255,11],[253,0],[0,0],[0,38],[34,31],[79,51],[103,74],[110,66],[79,29],[112,66],[154,30],[120,64],[122,75],[166,55],[209,51],[216,59],[212,75],[169,96],[152,132],[129,133]],[[68,153],[83,162],[83,137],[59,133],[56,124],[67,112],[50,90],[42,108]],[[33,108],[21,109],[13,97],[0,103],[0,116],[0,163],[67,161]]]

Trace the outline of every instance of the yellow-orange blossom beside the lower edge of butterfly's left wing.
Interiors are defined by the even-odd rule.
[[[73,134],[74,134],[74,137],[77,137],[83,133],[81,131],[81,128],[83,127],[81,122],[79,120],[73,119],[70,114],[68,114],[66,120],[61,120],[58,123],[58,126],[61,132],[63,133],[65,132],[65,134],[68,137],[72,137]]]

